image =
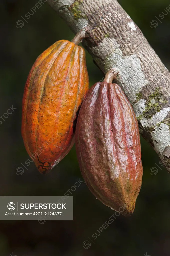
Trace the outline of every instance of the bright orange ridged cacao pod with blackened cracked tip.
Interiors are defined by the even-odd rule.
[[[74,144],[88,88],[85,51],[67,40],[57,41],[32,66],[22,101],[22,137],[40,173],[48,173]]]

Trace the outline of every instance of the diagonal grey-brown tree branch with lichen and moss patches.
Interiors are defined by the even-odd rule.
[[[118,72],[141,135],[170,173],[170,73],[141,30],[116,0],[47,1],[75,34],[87,28],[83,46],[104,74]]]

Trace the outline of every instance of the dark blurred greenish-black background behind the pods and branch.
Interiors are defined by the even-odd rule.
[[[0,196],[63,196],[77,180],[82,180],[75,147],[49,174],[41,175],[30,159],[21,137],[21,103],[28,73],[35,59],[55,41],[71,40],[74,35],[55,11],[43,4],[16,27],[18,20],[38,1],[1,1],[1,87],[0,116],[16,108],[0,125]],[[166,0],[119,0],[149,43],[170,69],[170,13]],[[167,15],[159,18],[159,14]],[[22,16],[22,17],[21,17]],[[160,22],[157,18],[160,19]],[[152,20],[157,21],[151,23]],[[90,85],[103,74],[87,53]],[[6,115],[7,116],[7,115]],[[160,159],[141,138],[143,183],[134,214],[116,217],[93,242],[92,234],[114,213],[90,193],[86,184],[71,192],[74,197],[74,221],[0,221],[0,255],[170,255],[170,176]],[[23,164],[23,165],[22,165]],[[16,168],[24,173],[17,175]],[[88,238],[89,237],[89,238]],[[84,249],[83,241],[91,242]],[[147,254],[146,254],[147,253]]]

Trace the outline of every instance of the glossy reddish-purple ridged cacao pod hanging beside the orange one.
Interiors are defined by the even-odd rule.
[[[76,125],[81,174],[97,199],[129,216],[143,173],[135,113],[117,84],[98,82],[89,91]]]

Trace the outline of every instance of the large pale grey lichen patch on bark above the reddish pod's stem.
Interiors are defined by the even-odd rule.
[[[140,59],[135,54],[123,56],[120,45],[114,38],[104,38],[97,47],[93,47],[91,50],[94,55],[100,55],[100,59],[97,59],[96,62],[105,63],[102,68],[104,73],[113,68],[115,72],[119,73],[120,84],[124,92],[131,103],[135,102],[142,87],[148,84],[141,69]]]

